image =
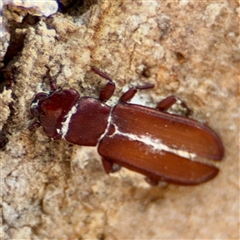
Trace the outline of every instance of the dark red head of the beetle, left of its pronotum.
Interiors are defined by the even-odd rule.
[[[39,119],[49,137],[59,139],[62,123],[79,97],[79,93],[74,89],[59,90],[50,94],[38,93],[32,101],[31,113]]]

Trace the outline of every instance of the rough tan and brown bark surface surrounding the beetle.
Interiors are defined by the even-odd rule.
[[[1,238],[238,239],[238,1],[102,0],[79,9],[27,22],[23,10],[5,9],[23,43],[8,63],[14,86],[0,94],[9,139],[0,152]],[[58,86],[81,95],[96,97],[106,83],[95,66],[114,79],[116,97],[154,83],[136,100],[184,100],[222,138],[220,174],[195,187],[151,187],[125,169],[106,175],[96,148],[30,132],[31,100],[49,89],[45,65]]]

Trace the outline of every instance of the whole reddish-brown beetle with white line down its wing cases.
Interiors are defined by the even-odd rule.
[[[108,80],[99,98],[80,97],[73,88],[57,89],[51,84],[50,93],[38,93],[33,99],[31,113],[48,137],[97,146],[106,173],[114,172],[117,164],[151,182],[179,185],[200,184],[218,174],[214,164],[197,161],[195,156],[222,160],[220,138],[203,123],[168,113],[178,101],[175,96],[160,101],[156,108],[128,102],[137,90],[154,87],[148,84],[131,87],[110,107],[106,102],[115,84],[106,73],[91,69]]]

